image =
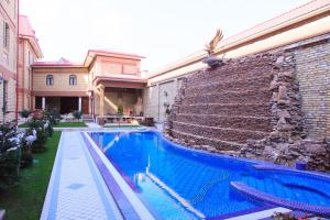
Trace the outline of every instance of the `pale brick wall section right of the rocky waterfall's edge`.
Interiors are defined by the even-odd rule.
[[[330,138],[330,35],[294,48],[297,80],[310,138]]]

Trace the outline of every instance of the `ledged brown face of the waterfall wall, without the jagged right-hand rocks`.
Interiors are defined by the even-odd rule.
[[[173,138],[189,145],[240,150],[272,131],[273,55],[226,61],[188,76],[168,118]]]

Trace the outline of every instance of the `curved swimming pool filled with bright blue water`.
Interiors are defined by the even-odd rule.
[[[211,219],[270,208],[238,193],[233,183],[288,201],[330,207],[328,176],[186,148],[154,131],[89,135],[157,219]]]

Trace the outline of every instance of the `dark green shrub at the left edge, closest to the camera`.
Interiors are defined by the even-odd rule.
[[[12,124],[0,125],[0,189],[8,188],[19,179],[21,148],[15,135]]]

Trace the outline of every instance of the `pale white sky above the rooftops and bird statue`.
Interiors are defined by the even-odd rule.
[[[88,50],[139,54],[153,72],[308,0],[20,0],[43,61],[82,63]]]

